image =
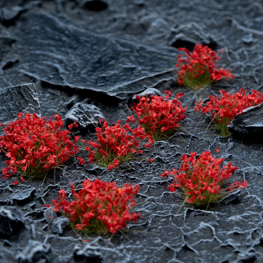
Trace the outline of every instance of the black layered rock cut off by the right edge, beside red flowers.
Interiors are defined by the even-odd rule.
[[[234,139],[263,143],[263,103],[236,115],[228,129]]]

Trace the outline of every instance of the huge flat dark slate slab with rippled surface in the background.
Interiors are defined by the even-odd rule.
[[[16,49],[21,71],[49,84],[115,96],[142,90],[126,85],[174,68],[175,49],[95,34],[49,13],[27,17]],[[155,82],[152,79],[153,83]]]

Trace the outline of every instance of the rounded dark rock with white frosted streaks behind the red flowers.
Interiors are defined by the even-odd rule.
[[[79,127],[74,130],[86,131],[87,129],[94,130],[95,125],[99,125],[99,119],[104,119],[101,110],[90,104],[76,103],[66,114],[65,121],[68,127],[69,124],[77,122]]]

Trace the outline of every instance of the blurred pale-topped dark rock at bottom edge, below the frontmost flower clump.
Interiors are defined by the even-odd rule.
[[[74,247],[74,259],[77,262],[103,262],[102,252],[98,246],[85,245],[83,248],[81,245],[75,245]]]

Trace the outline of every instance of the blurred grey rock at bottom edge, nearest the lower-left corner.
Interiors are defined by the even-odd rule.
[[[29,240],[28,245],[16,256],[18,263],[51,262],[51,245]]]

